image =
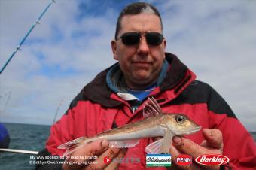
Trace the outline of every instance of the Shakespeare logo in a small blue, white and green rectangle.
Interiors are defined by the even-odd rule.
[[[170,154],[148,154],[146,156],[147,167],[172,165],[172,157]]]

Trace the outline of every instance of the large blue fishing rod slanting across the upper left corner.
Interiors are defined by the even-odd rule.
[[[50,8],[50,5],[53,4],[53,2],[55,2],[55,0],[51,0],[51,2],[47,5],[47,7],[44,9],[44,11],[42,12],[42,14],[40,15],[40,17],[38,17],[38,20],[35,21],[35,23],[32,25],[32,27],[29,29],[29,32],[26,33],[25,37],[22,39],[22,41],[20,41],[20,44],[18,45],[18,47],[14,50],[14,52],[11,54],[11,56],[9,57],[9,59],[7,60],[7,62],[5,62],[5,65],[2,67],[0,74],[2,74],[2,71],[5,70],[6,66],[8,65],[9,62],[11,62],[11,59],[14,57],[14,55],[17,53],[18,50],[21,50],[20,47],[22,46],[22,44],[24,43],[24,41],[26,41],[26,38],[28,38],[29,34],[32,32],[32,30],[35,28],[35,26],[37,24],[39,24],[39,21],[41,20],[41,17],[44,16],[44,14],[46,13],[46,11],[48,10],[48,8]]]

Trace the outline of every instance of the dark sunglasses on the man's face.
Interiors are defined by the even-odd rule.
[[[158,46],[163,42],[163,35],[158,32],[126,32],[120,38],[123,44],[137,45],[141,41],[142,35],[145,35],[148,45]]]

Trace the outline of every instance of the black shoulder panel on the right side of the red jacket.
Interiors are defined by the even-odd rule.
[[[236,118],[227,102],[207,83],[198,80],[190,83],[180,96],[172,101],[173,105],[184,103],[206,103],[209,111],[213,111],[216,114],[227,114],[227,117]]]

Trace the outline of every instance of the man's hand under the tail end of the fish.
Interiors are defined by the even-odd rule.
[[[66,162],[63,165],[63,170],[75,170],[75,169],[86,169],[86,170],[96,170],[96,169],[117,169],[119,163],[110,162],[105,163],[103,159],[107,156],[109,159],[114,159],[115,157],[122,158],[125,156],[127,150],[117,149],[108,147],[108,141],[93,141],[90,144],[85,145],[80,150],[76,150],[70,156],[70,159],[66,159]],[[97,159],[84,159],[88,156],[97,156]],[[73,157],[73,158],[72,158]],[[74,159],[75,157],[75,159]],[[95,162],[89,165],[86,165],[81,162]]]

